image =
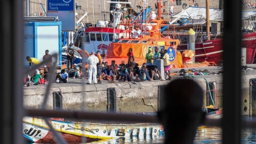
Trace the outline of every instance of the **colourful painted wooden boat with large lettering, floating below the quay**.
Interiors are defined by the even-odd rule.
[[[114,138],[144,139],[151,137],[156,139],[164,137],[164,129],[161,124],[80,123],[67,122],[63,119],[50,119],[50,123],[67,142],[81,142],[83,137],[87,142]],[[49,143],[55,140],[49,126],[44,119],[39,117],[23,118],[23,134],[28,141],[35,143]]]

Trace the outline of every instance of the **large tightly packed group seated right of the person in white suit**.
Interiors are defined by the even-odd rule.
[[[138,63],[132,62],[132,66],[127,66],[124,61],[117,66],[115,63],[105,62],[103,69],[101,71],[101,77],[103,80],[113,81],[113,82],[142,82],[142,81],[153,81],[153,80],[163,80],[160,71],[157,66],[147,66],[143,63],[139,67]]]

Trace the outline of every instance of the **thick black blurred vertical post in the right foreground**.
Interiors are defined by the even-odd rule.
[[[222,143],[241,143],[242,1],[225,0],[223,28]],[[235,59],[230,59],[230,55]],[[232,73],[230,73],[232,69]],[[230,82],[232,86],[230,86]]]

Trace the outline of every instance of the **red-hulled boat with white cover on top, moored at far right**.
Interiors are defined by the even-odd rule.
[[[179,26],[179,29],[188,30],[189,28],[192,29],[199,29],[199,27],[207,28],[207,21],[210,20],[213,23],[218,23],[219,27],[221,27],[222,20],[222,10],[219,9],[210,9],[210,16],[207,19],[206,18],[206,9],[204,7],[188,7],[188,9],[178,13],[177,15],[174,15],[173,18],[176,18],[176,20],[188,18],[190,19],[188,23],[186,23],[185,26]],[[243,21],[243,27],[242,31],[244,31],[242,35],[242,47],[246,48],[246,64],[252,64],[254,63],[255,59],[255,48],[256,48],[256,32],[255,32],[255,11],[243,11],[242,12],[242,21]],[[198,16],[200,15],[200,16]],[[199,20],[200,19],[200,20]],[[198,22],[201,21],[201,22]],[[173,23],[174,24],[174,23]],[[177,22],[177,25],[180,25],[180,23]],[[200,25],[200,26],[199,26]],[[183,28],[182,28],[183,27]],[[213,29],[213,26],[212,26]],[[220,63],[220,60],[222,60],[222,38],[221,38],[221,32],[216,31],[216,34],[209,34],[206,35],[206,32],[204,33],[202,29],[199,31],[199,36],[195,36],[196,42],[195,42],[195,62],[203,62],[203,61],[209,61],[209,62],[215,62],[217,64]],[[210,30],[209,30],[210,31]],[[184,32],[185,33],[185,32]],[[183,33],[183,38],[186,39],[187,33]],[[197,32],[196,32],[197,34]],[[202,35],[203,34],[203,35]],[[199,37],[199,41],[197,41]],[[209,38],[208,38],[209,37]],[[201,39],[200,39],[201,38]],[[178,51],[184,51],[187,50],[188,44],[186,41],[183,41],[185,43],[182,43],[178,46]]]

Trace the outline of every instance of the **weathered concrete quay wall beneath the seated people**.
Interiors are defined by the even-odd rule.
[[[256,114],[255,106],[255,93],[251,92],[252,89],[256,90],[256,65],[247,65],[252,67],[249,69],[242,69],[242,115]],[[254,67],[254,68],[253,68]],[[188,70],[189,68],[184,68]],[[198,67],[197,70],[207,69],[210,71],[209,75],[188,75],[183,77],[180,73],[175,73],[180,69],[172,69],[172,79],[176,78],[193,78],[195,82],[201,85],[204,93],[204,106],[213,104],[209,97],[209,89],[215,90],[212,93],[214,105],[222,107],[222,67]],[[230,70],[232,73],[232,70]],[[47,109],[53,109],[53,92],[61,91],[63,99],[63,110],[86,110],[86,111],[107,111],[107,89],[115,87],[116,91],[116,111],[117,113],[143,113],[157,111],[158,103],[158,85],[166,85],[172,80],[166,81],[145,81],[145,82],[116,82],[103,81],[102,84],[86,84],[86,79],[76,78],[68,79],[66,84],[54,83],[49,92],[49,99],[47,100]],[[230,82],[232,86],[233,82]],[[186,90],[186,87],[183,87]],[[23,106],[28,109],[41,108],[46,85],[31,85],[24,86],[23,89]],[[172,95],[170,97],[177,97]],[[215,98],[214,98],[215,97]],[[232,99],[232,95],[227,95]],[[174,101],[170,101],[171,103]],[[83,105],[84,103],[84,105]],[[250,107],[252,106],[252,107]]]

